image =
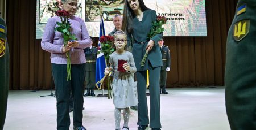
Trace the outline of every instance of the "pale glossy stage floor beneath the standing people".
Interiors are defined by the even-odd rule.
[[[224,86],[168,88],[161,96],[162,130],[230,129],[225,110]],[[106,93],[106,90],[104,90]],[[102,90],[95,90],[96,96]],[[49,90],[9,91],[5,130],[56,129],[56,98]],[[148,108],[150,107],[149,96]],[[113,130],[114,105],[108,97],[84,97],[84,127],[88,130]],[[137,111],[130,110],[129,129],[137,129]],[[73,130],[72,113],[70,129]],[[121,128],[123,118],[121,119]]]

